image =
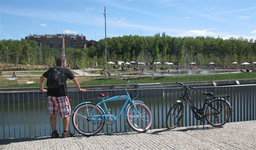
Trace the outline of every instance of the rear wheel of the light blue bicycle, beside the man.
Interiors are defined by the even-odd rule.
[[[77,107],[72,114],[72,124],[74,129],[84,135],[84,136],[93,136],[100,132],[105,121],[89,121],[87,120],[88,114],[92,112],[95,108],[95,104],[85,103],[79,107]],[[93,111],[92,115],[103,115],[104,112],[100,109],[100,107],[96,107]],[[104,117],[100,117],[100,119],[104,119]]]

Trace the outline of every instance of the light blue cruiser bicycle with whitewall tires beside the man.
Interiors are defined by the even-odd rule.
[[[142,101],[134,101],[139,95],[139,92],[138,95],[131,100],[127,92],[130,80],[126,78],[124,78],[124,80],[129,83],[125,87],[114,86],[111,88],[121,87],[125,90],[126,95],[117,95],[108,98],[109,93],[102,93],[98,94],[101,98],[100,103],[84,102],[75,107],[72,112],[72,123],[77,132],[85,136],[95,135],[100,132],[105,122],[106,124],[113,124],[125,108],[125,119],[130,128],[140,133],[145,132],[150,128],[152,123],[150,109]],[[125,100],[125,103],[117,116],[114,116],[113,114],[110,114],[111,110],[107,108],[105,102],[119,100]],[[103,109],[105,111],[100,107],[100,104],[103,104]]]

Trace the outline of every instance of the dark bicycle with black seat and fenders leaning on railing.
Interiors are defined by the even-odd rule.
[[[190,109],[195,114],[197,120],[201,120],[204,127],[204,120],[206,119],[212,126],[222,126],[228,122],[230,111],[232,108],[227,101],[229,95],[214,95],[212,92],[204,92],[206,95],[205,102],[201,109],[197,109],[188,94],[188,90],[197,90],[192,86],[185,86],[183,83],[176,82],[179,87],[185,89],[184,95],[176,101],[176,103],[169,110],[166,117],[167,128],[175,128],[181,121],[184,115],[184,101],[187,100]]]

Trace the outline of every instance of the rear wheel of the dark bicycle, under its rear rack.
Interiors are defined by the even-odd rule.
[[[204,114],[207,122],[217,127],[228,122],[230,111],[231,109],[225,100],[215,99],[207,105]]]

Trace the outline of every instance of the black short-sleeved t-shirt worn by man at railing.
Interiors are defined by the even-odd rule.
[[[44,72],[43,76],[45,78],[48,78],[49,72],[50,72],[49,70]],[[72,79],[75,78],[74,74],[68,68],[64,68],[64,77],[65,77],[66,81],[68,79],[72,80]],[[48,96],[55,96],[55,97],[67,96],[66,81],[65,81],[64,85],[61,86],[60,88],[49,88],[49,87],[47,87],[47,95]]]

